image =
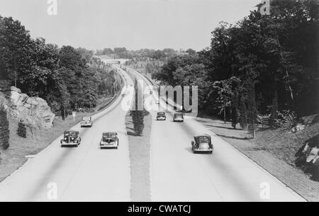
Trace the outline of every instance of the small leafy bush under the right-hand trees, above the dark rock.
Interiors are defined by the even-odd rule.
[[[277,111],[277,116],[278,117],[274,119],[275,127],[291,130],[291,128],[296,125],[296,113],[291,110]]]

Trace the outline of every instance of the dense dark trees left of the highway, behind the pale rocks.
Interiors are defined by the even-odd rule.
[[[113,96],[121,79],[93,51],[30,38],[19,21],[0,16],[0,85],[44,98],[64,116],[69,110],[93,108],[101,95]]]

